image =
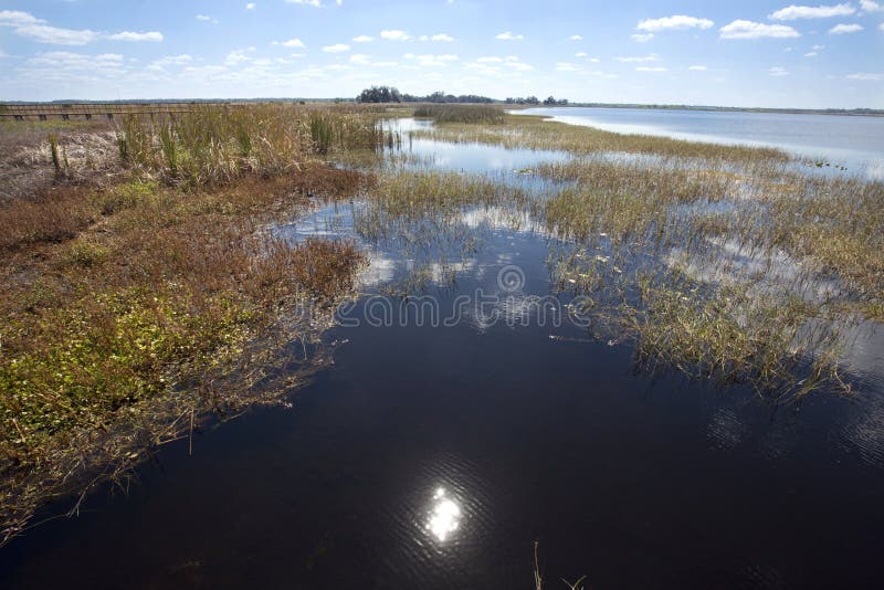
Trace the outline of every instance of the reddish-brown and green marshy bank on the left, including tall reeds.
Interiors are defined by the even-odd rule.
[[[364,256],[263,228],[370,186],[322,157],[373,147],[373,129],[282,106],[128,118],[113,178],[69,181],[69,160],[0,208],[0,541],[43,502],[325,361],[322,333]]]

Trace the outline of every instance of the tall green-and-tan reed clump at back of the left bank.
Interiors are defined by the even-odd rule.
[[[175,117],[127,116],[117,130],[124,165],[185,187],[244,173],[297,170],[315,155],[381,145],[373,116],[294,105],[198,106]]]

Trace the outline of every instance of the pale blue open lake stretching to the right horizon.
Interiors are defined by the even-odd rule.
[[[884,117],[657,108],[552,107],[513,110],[569,125],[691,141],[779,147],[884,178]]]

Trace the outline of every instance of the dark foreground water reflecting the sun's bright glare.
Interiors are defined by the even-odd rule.
[[[280,231],[354,235],[360,207]],[[494,210],[460,228],[477,245],[446,265],[366,243],[335,366],[293,408],[208,429],[192,457],[165,447],[128,494],[0,550],[0,587],[533,588],[535,540],[545,588],[882,587],[880,337],[852,349],[855,399],[653,379],[629,346],[539,320],[549,236]],[[368,322],[421,265],[439,320]]]

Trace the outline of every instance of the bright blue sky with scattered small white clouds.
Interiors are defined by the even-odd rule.
[[[0,0],[0,99],[354,96],[884,108],[884,0]]]

